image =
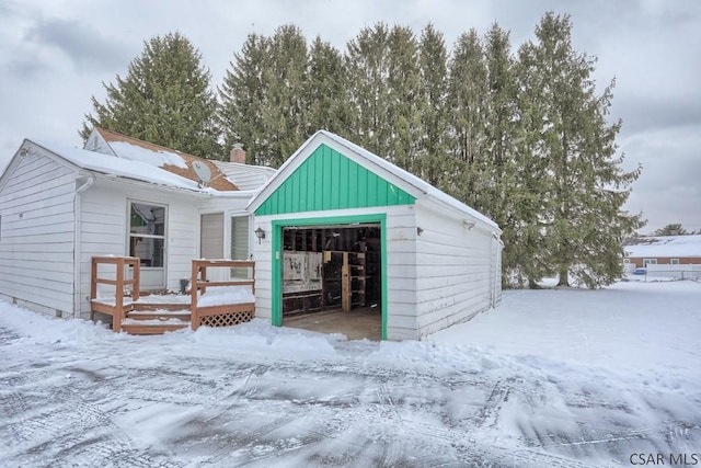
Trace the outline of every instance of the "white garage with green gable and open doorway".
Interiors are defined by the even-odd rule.
[[[327,132],[249,203],[256,316],[375,310],[382,339],[422,339],[501,300],[501,229],[457,199]],[[348,316],[350,317],[350,316]]]

